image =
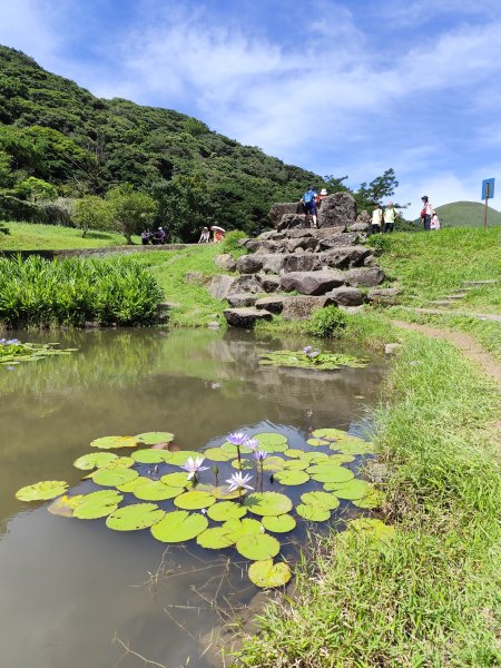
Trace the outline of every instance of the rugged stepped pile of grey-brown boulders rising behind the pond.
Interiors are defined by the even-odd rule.
[[[396,289],[376,287],[385,275],[373,249],[364,245],[369,225],[355,220],[351,195],[337,193],[323,200],[318,228],[310,227],[296,207],[274,205],[269,218],[275,229],[242,240],[249,254],[237,261],[239,276],[227,282],[224,295],[230,325],[252,327],[256,320],[278,313],[289,320],[307,318],[328,305],[395,303]]]

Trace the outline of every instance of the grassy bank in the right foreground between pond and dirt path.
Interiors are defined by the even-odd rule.
[[[451,345],[407,337],[377,415],[395,539],[315,541],[239,666],[498,666],[499,395]],[[498,627],[499,628],[499,627]]]

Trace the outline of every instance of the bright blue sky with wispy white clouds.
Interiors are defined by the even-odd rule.
[[[354,187],[393,167],[410,216],[501,178],[492,0],[0,0],[0,43]]]

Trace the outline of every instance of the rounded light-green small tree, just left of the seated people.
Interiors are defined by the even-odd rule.
[[[146,193],[135,190],[130,184],[111,188],[106,194],[111,225],[121,232],[128,244],[132,234],[149,227],[157,213],[157,203]]]

